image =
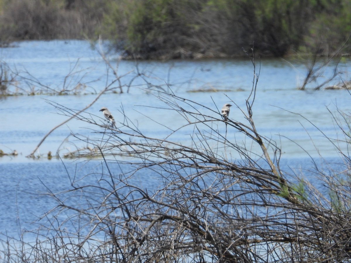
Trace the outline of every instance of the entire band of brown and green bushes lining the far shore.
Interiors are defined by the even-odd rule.
[[[15,0],[0,17],[2,41],[102,35],[131,58],[349,52],[347,0]],[[345,50],[346,48],[346,50]]]

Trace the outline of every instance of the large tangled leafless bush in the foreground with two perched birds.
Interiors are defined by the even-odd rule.
[[[91,114],[55,104],[62,114],[95,125],[95,138],[75,135],[89,146],[76,157],[99,158],[103,172],[86,175],[95,178],[89,184],[68,174],[67,191],[47,189],[58,203],[42,217],[49,227],[42,225],[34,243],[3,240],[0,255],[7,262],[350,260],[350,157],[343,154],[341,173],[314,168],[329,196],[280,169],[279,147],[255,127],[259,69],[251,61],[252,92],[240,109],[245,122],[229,119],[226,128],[218,109],[159,90],[148,90],[164,102],[155,110],[184,118],[163,138],[139,129],[123,109],[124,119],[111,129]],[[335,122],[349,143],[343,124],[349,116],[339,116]],[[177,135],[188,138],[173,140]],[[151,179],[159,186],[136,183]]]

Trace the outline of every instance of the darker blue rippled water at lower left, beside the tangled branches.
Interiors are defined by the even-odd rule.
[[[126,173],[126,169],[130,168],[111,163],[108,166],[115,177],[119,177],[122,172]],[[145,171],[128,180],[127,176],[126,173],[125,180],[138,187],[154,189],[160,184],[159,178],[151,173],[145,174]],[[91,202],[90,198],[93,196],[86,196],[84,191],[73,195],[66,192],[74,187],[90,185],[111,190],[111,177],[107,173],[106,165],[100,161],[34,161],[16,165],[5,163],[1,164],[1,178],[1,233],[6,232],[14,237],[26,231],[37,233],[36,230],[42,229],[42,225],[49,227],[48,222],[53,215],[46,213],[59,204],[64,203],[79,209],[87,207],[87,202]],[[97,200],[102,198],[100,188],[93,188]],[[119,190],[119,194],[124,194],[123,189]],[[65,212],[58,216],[58,220],[64,221],[68,217],[69,214]],[[68,227],[72,228],[72,225]],[[35,234],[27,236],[35,237]]]

